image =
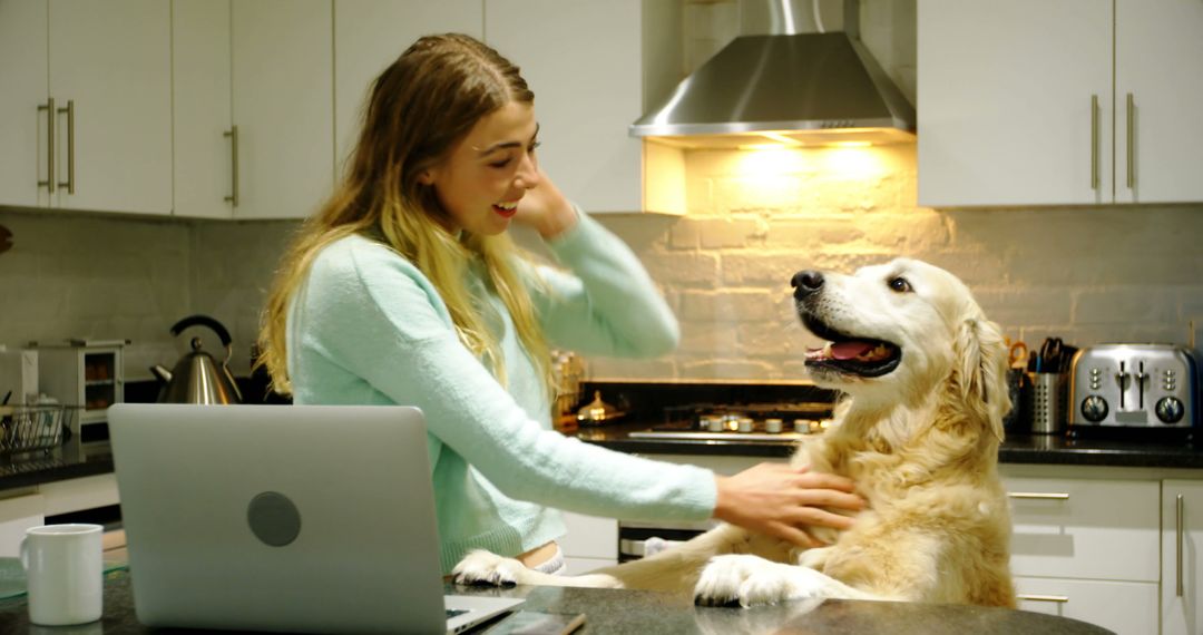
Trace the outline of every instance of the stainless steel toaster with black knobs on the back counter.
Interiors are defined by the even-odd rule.
[[[1101,344],[1073,356],[1071,426],[1190,428],[1198,423],[1198,361],[1173,344]]]

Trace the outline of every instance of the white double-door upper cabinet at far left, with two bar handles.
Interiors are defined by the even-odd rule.
[[[6,0],[0,41],[0,203],[170,214],[171,6]]]

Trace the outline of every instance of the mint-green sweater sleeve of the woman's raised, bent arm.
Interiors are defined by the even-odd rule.
[[[532,296],[549,342],[585,355],[656,357],[680,328],[635,254],[598,221],[580,221],[547,247],[570,272],[538,267]]]

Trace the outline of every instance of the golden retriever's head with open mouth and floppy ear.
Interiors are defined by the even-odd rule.
[[[968,408],[1001,425],[1011,405],[1006,348],[956,277],[897,259],[852,275],[802,271],[792,283],[802,324],[829,340],[806,352],[817,384],[906,404],[952,380]]]

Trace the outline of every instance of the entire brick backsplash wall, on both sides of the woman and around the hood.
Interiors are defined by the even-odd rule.
[[[688,5],[692,64],[735,35],[734,14],[733,2]],[[863,24],[913,100],[914,1],[869,0]],[[1203,327],[1203,204],[934,210],[917,206],[915,183],[914,146],[691,153],[686,216],[600,218],[663,287],[682,345],[650,362],[589,360],[593,376],[798,379],[808,339],[792,314],[790,275],[895,255],[953,271],[1030,343],[1054,333],[1074,344],[1186,343],[1191,320]],[[167,330],[190,313],[231,330],[233,368],[245,373],[262,298],[297,226],[46,210],[4,210],[0,225],[14,244],[0,254],[0,343],[130,338],[131,379],[185,351]]]

